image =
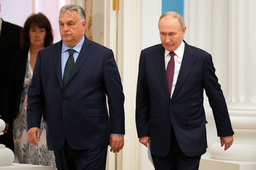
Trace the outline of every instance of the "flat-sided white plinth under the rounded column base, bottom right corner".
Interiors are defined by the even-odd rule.
[[[230,148],[229,148],[230,149]],[[211,158],[210,154],[206,152],[201,156],[199,170],[255,170],[256,169],[256,160],[255,162],[249,161],[227,161],[227,160],[218,160]]]

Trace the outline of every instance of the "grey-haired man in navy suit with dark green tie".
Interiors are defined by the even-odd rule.
[[[60,9],[61,41],[38,52],[28,89],[28,139],[38,145],[45,110],[47,146],[62,170],[105,169],[108,145],[114,153],[124,146],[124,94],[118,67],[111,49],[83,35],[85,19],[78,5]],[[74,65],[67,76],[70,59]]]

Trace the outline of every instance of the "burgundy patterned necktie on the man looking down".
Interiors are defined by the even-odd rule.
[[[168,84],[168,88],[169,88],[169,93],[171,96],[172,93],[172,86],[173,86],[173,75],[174,75],[174,55],[175,53],[173,51],[171,51],[169,53],[171,55],[171,59],[167,64],[167,68],[166,68],[166,78],[167,78],[167,84]]]

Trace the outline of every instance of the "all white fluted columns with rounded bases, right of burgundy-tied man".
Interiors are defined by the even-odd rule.
[[[216,127],[205,96],[207,142],[216,159],[256,160],[255,7],[254,0],[184,1],[184,40],[212,55],[235,132],[233,145],[224,151],[212,136]]]

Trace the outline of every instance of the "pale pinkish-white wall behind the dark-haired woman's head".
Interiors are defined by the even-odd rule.
[[[54,34],[53,43],[60,41],[58,26],[59,10],[61,6],[69,4],[70,0],[35,0],[34,7],[32,2],[32,0],[1,0],[0,17],[4,21],[23,27],[26,19],[33,12],[41,12],[49,19],[51,23]]]

